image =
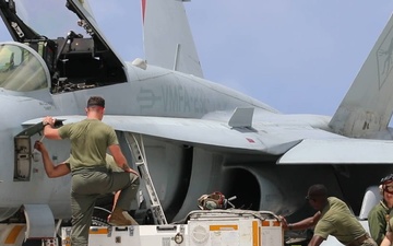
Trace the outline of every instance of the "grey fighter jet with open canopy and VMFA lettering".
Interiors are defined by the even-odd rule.
[[[88,1],[64,0],[59,14],[43,2],[40,12],[28,0],[0,0],[13,38],[0,43],[0,221],[25,225],[26,237],[48,237],[71,216],[70,176],[48,178],[34,151],[39,122],[83,119],[92,95],[106,98],[104,121],[130,163],[130,138],[143,140],[168,222],[213,191],[236,196],[237,208],[298,218],[315,183],[358,211],[367,187],[392,171],[392,19],[331,117],[285,115],[204,79],[182,1],[142,0],[145,57],[133,61],[109,44]],[[71,31],[48,35],[57,23]],[[68,141],[43,141],[53,162],[69,156]]]

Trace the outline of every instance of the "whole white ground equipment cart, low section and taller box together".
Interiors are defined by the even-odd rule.
[[[71,227],[62,227],[62,246]],[[278,218],[248,210],[198,210],[183,224],[92,226],[88,246],[283,246]]]

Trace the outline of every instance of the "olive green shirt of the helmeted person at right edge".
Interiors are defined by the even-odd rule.
[[[382,243],[382,239],[386,234],[388,221],[389,218],[392,218],[389,213],[390,209],[383,203],[383,201],[380,201],[368,214],[370,234],[378,245]]]

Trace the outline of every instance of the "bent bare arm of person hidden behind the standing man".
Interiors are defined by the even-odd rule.
[[[55,166],[55,164],[52,163],[52,161],[49,157],[49,153],[48,153],[47,149],[45,148],[45,145],[41,142],[36,141],[34,144],[34,148],[41,153],[44,168],[45,168],[45,172],[48,175],[48,177],[50,177],[50,178],[61,177],[71,172],[66,163],[60,163],[59,165]]]

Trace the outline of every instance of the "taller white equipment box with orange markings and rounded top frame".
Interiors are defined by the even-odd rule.
[[[195,211],[189,216],[190,246],[282,246],[284,244],[281,221],[271,212],[212,210]]]

